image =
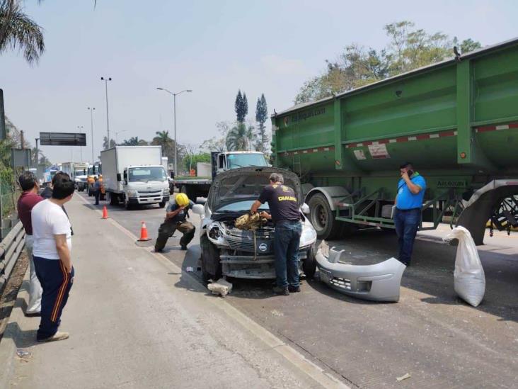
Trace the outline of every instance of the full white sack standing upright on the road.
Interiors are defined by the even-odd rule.
[[[471,234],[464,227],[455,227],[443,238],[444,241],[459,240],[455,258],[454,286],[459,297],[473,307],[484,298],[485,275],[478,251]]]

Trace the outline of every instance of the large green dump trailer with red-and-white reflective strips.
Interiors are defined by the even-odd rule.
[[[427,180],[421,230],[449,216],[482,244],[488,219],[517,225],[518,39],[294,106],[272,129],[321,238],[393,228],[403,162]]]

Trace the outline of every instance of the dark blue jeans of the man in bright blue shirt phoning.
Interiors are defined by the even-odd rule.
[[[398,259],[407,266],[410,264],[410,256],[412,256],[415,234],[418,232],[420,220],[420,208],[409,210],[396,209],[394,224],[396,225],[396,234],[398,235]]]

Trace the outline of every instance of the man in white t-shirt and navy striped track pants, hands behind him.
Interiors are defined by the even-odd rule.
[[[31,213],[34,265],[43,288],[41,322],[36,336],[38,342],[69,337],[67,332],[58,332],[57,329],[74,281],[71,226],[62,208],[73,194],[74,181],[69,176],[63,176],[54,183],[52,198],[40,201]]]

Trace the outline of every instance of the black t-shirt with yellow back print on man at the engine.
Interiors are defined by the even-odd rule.
[[[285,185],[268,185],[261,192],[258,200],[268,203],[273,222],[282,220],[300,220],[299,202],[292,188]]]

